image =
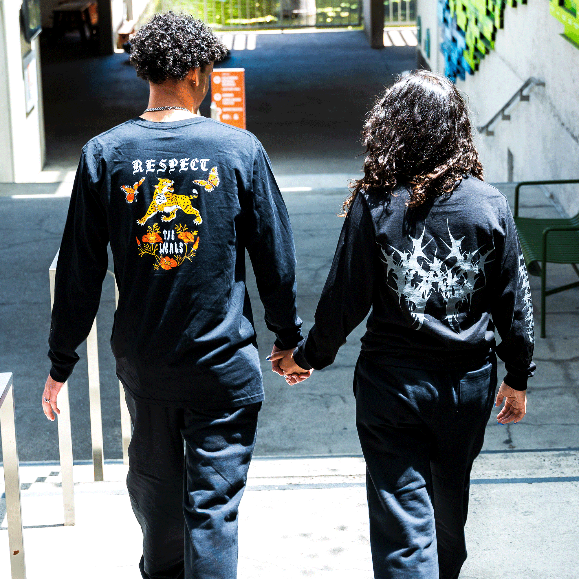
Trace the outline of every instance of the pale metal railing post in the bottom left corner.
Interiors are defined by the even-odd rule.
[[[2,433],[10,569],[12,570],[12,579],[26,579],[15,416],[12,373],[2,373],[0,374],[0,433]]]

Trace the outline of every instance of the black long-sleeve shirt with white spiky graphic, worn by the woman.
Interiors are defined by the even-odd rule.
[[[480,367],[496,351],[505,383],[525,390],[535,370],[533,305],[507,199],[472,177],[416,210],[408,199],[406,186],[356,197],[296,364],[332,364],[372,309],[362,356],[452,371]]]

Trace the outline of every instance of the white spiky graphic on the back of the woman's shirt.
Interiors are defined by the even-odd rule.
[[[461,244],[464,237],[455,239],[448,229],[450,245],[442,240],[450,252],[445,258],[439,258],[436,250],[432,259],[424,254],[424,249],[434,239],[423,245],[426,223],[422,235],[417,239],[408,236],[412,241],[411,250],[398,250],[389,245],[392,252],[382,249],[382,259],[387,266],[387,276],[393,274],[389,287],[398,294],[398,301],[406,305],[413,320],[420,329],[424,323],[428,298],[438,293],[445,304],[446,314],[442,318],[455,332],[460,330],[459,308],[470,307],[472,296],[479,291],[485,282],[485,265],[489,263],[490,251],[482,252],[482,247],[474,251],[463,251]],[[478,259],[475,256],[478,255]],[[398,256],[398,257],[396,257]],[[492,261],[492,260],[491,260]],[[475,284],[482,278],[482,284],[475,289]],[[393,285],[395,284],[395,286]]]

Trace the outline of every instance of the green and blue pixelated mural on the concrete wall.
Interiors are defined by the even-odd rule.
[[[579,0],[549,0],[549,10],[565,25],[563,36],[579,46]],[[526,4],[527,0],[521,0]],[[494,49],[494,36],[503,28],[506,6],[516,0],[438,0],[438,21],[443,32],[440,46],[445,74],[464,80],[478,70],[481,60]]]

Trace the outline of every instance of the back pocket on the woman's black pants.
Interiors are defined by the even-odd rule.
[[[496,369],[492,363],[467,372],[459,382],[459,421],[477,420],[488,412],[495,388]]]

